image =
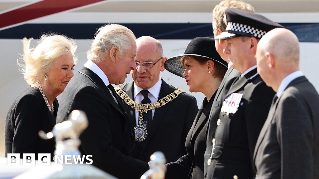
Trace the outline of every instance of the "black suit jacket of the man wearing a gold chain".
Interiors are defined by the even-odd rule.
[[[122,89],[134,100],[133,81],[122,86]],[[159,99],[176,90],[162,79]],[[124,104],[131,123],[136,126],[135,109]],[[176,161],[187,154],[185,148],[186,136],[198,112],[196,98],[187,94],[179,94],[169,103],[155,109],[152,127],[148,130],[146,140],[136,142],[132,156],[148,162],[150,156],[156,152],[164,153],[167,162]]]

